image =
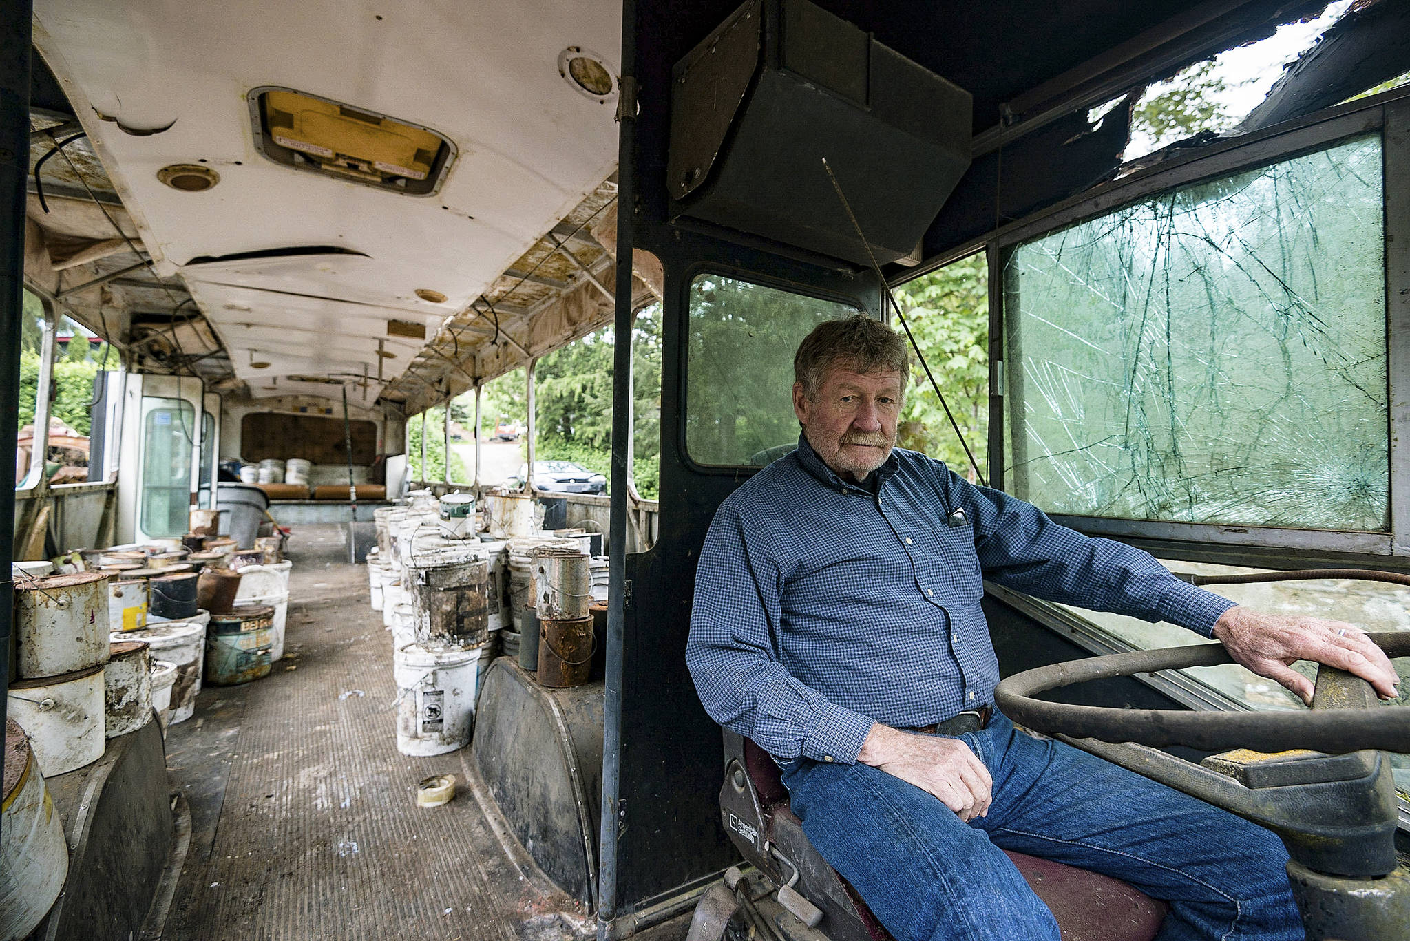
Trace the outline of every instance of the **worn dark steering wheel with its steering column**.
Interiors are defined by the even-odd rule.
[[[1371,639],[1390,657],[1410,656],[1410,631]],[[1375,751],[1410,751],[1410,708],[1378,707],[1369,683],[1325,664],[1310,711],[1118,710],[1035,698],[1087,680],[1232,662],[1222,643],[1070,660],[1008,677],[994,701],[1019,725],[1277,834],[1292,856],[1289,882],[1308,938],[1410,938],[1394,782],[1390,762]],[[1245,751],[1194,765],[1155,748],[1166,745]],[[1289,749],[1311,751],[1266,753]]]

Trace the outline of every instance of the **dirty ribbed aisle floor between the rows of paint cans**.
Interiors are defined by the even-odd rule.
[[[341,528],[298,528],[285,660],[203,690],[169,732],[192,845],[162,937],[587,935],[584,913],[496,835],[467,789],[467,751],[398,753],[391,635],[345,553]],[[416,807],[416,783],[436,773],[460,777],[455,800]]]

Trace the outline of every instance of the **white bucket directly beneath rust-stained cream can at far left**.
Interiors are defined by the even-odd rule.
[[[10,684],[10,715],[30,735],[39,772],[66,775],[103,758],[103,667],[16,680]]]

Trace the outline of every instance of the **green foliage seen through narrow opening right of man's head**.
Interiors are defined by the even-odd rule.
[[[988,265],[983,253],[901,285],[895,299],[987,478]],[[901,447],[924,451],[943,460],[955,473],[974,478],[964,449],[914,357],[897,432]]]

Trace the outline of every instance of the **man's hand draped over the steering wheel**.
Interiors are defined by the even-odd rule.
[[[1376,696],[1399,696],[1390,659],[1361,628],[1303,615],[1275,615],[1237,605],[1220,615],[1214,638],[1238,663],[1286,686],[1311,705],[1313,681],[1292,669],[1294,660],[1316,660],[1371,683]]]

